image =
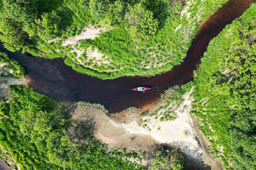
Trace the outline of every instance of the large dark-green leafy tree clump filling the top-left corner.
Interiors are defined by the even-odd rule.
[[[23,24],[34,22],[37,17],[36,2],[36,0],[2,0],[0,39],[8,50],[20,50],[30,42],[23,30]]]

